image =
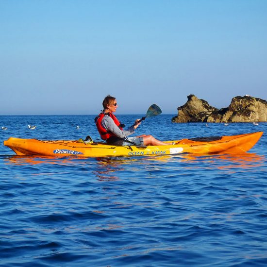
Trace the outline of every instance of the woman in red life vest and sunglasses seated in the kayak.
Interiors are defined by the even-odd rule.
[[[109,145],[117,146],[165,146],[169,145],[160,140],[155,139],[152,135],[139,135],[134,137],[127,137],[134,134],[134,130],[140,125],[139,120],[135,120],[133,126],[127,130],[123,130],[122,125],[117,117],[113,114],[117,110],[117,100],[108,95],[103,100],[103,111],[95,118],[95,122],[103,140]]]

